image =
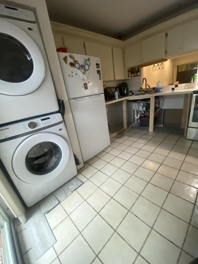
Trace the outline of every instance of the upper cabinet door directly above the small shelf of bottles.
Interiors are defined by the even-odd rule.
[[[137,43],[124,50],[125,68],[137,66],[142,63],[142,44]]]

